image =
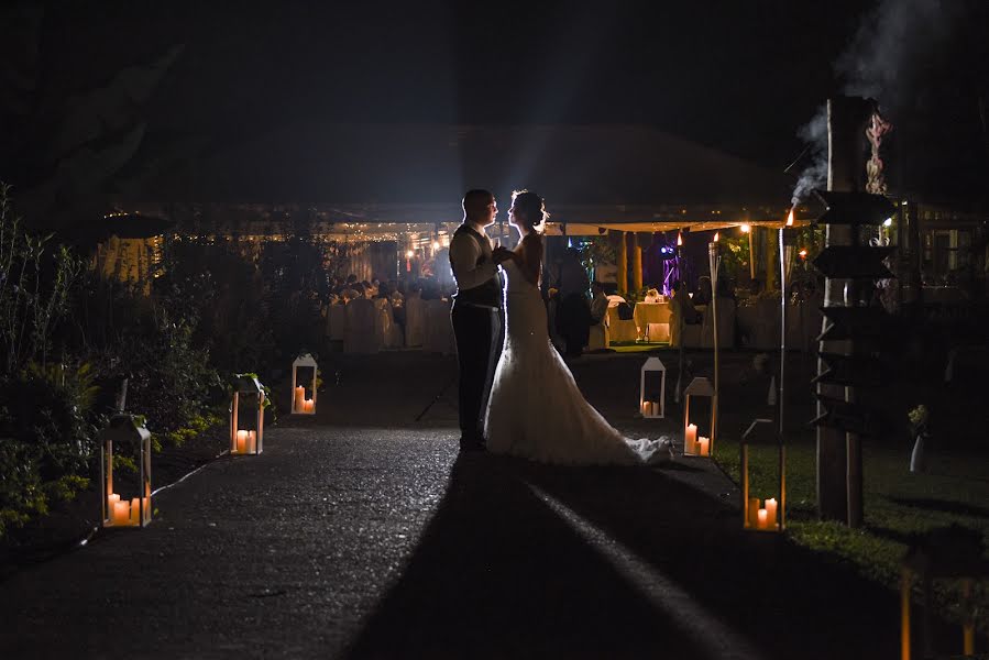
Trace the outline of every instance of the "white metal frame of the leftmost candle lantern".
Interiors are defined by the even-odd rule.
[[[142,528],[151,522],[151,431],[140,424],[133,415],[120,413],[110,418],[110,425],[100,431],[100,484],[102,526],[112,528]],[[118,447],[130,444],[138,447],[139,488],[141,494],[128,502],[127,522],[118,521],[116,512],[110,506],[110,498],[116,497],[113,507],[120,502],[120,495],[113,492],[113,443]],[[133,510],[134,501],[138,510]]]

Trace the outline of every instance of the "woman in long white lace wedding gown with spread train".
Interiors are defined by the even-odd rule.
[[[660,463],[672,459],[669,439],[624,438],[589,404],[552,346],[539,293],[541,197],[512,195],[508,223],[521,240],[502,264],[507,276],[505,348],[485,417],[487,450],[567,465]]]

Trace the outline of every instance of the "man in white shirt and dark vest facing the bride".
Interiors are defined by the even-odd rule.
[[[450,317],[460,366],[460,450],[484,450],[484,409],[501,355],[502,285],[498,264],[512,257],[505,248],[491,249],[485,227],[494,223],[498,205],[487,190],[463,196],[463,224],[450,241],[450,266],[457,295]]]

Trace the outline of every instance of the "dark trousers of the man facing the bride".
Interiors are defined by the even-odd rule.
[[[502,310],[454,302],[450,316],[460,367],[460,441],[477,442],[484,437],[484,411],[502,353]]]

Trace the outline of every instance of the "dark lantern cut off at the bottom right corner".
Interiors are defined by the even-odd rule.
[[[900,573],[901,660],[910,660],[913,650],[910,595],[914,576],[921,581],[924,598],[921,622],[924,648],[921,657],[934,657],[934,640],[931,635],[934,580],[961,581],[961,652],[963,656],[975,656],[976,603],[971,591],[972,583],[989,576],[989,561],[982,558],[983,553],[981,532],[960,525],[932,529],[911,544],[903,558]]]

